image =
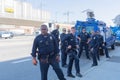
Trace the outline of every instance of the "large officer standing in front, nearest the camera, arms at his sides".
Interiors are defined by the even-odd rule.
[[[59,49],[55,38],[48,33],[46,25],[41,25],[41,34],[34,39],[32,62],[37,65],[36,55],[40,62],[41,80],[47,80],[49,65],[53,67],[60,80],[66,80],[59,66]],[[37,51],[38,50],[38,51]]]

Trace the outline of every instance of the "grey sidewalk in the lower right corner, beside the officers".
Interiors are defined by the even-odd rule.
[[[110,59],[104,59],[99,65],[92,67],[82,78],[76,80],[120,80],[120,47],[113,50]]]

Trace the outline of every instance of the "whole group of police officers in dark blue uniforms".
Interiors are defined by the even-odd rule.
[[[51,33],[48,33],[46,25],[41,25],[40,30],[41,34],[34,39],[31,55],[34,65],[37,65],[36,56],[38,56],[41,80],[47,80],[47,73],[50,65],[53,67],[60,80],[66,80],[59,66],[59,43],[61,44],[61,64],[62,67],[67,68],[68,77],[75,78],[72,74],[73,62],[75,62],[76,76],[82,77],[80,73],[79,58],[81,57],[83,49],[85,49],[87,59],[91,59],[90,55],[92,55],[92,66],[98,65],[97,59],[100,60],[100,49],[104,50],[106,57],[109,58],[108,50],[99,31],[92,31],[90,35],[86,32],[86,29],[83,28],[81,33],[76,36],[75,27],[72,27],[68,33],[66,33],[66,29],[63,28],[61,34],[59,34],[59,25],[57,25],[56,29]],[[66,61],[67,56],[69,57],[68,64]]]

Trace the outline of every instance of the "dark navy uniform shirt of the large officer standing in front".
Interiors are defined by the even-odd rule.
[[[37,49],[39,55],[48,55],[52,52],[54,52],[55,54],[59,53],[57,42],[55,38],[50,34],[40,34],[34,39],[31,54],[33,57],[36,57]]]

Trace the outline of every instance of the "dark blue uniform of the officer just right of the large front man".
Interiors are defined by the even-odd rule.
[[[69,75],[72,75],[72,65],[73,65],[74,60],[75,60],[76,73],[80,73],[79,58],[77,56],[77,51],[76,51],[77,39],[76,39],[75,35],[69,34],[68,45],[71,45],[71,47],[72,47],[71,49],[68,49],[69,64],[68,64],[67,73],[69,76]]]

